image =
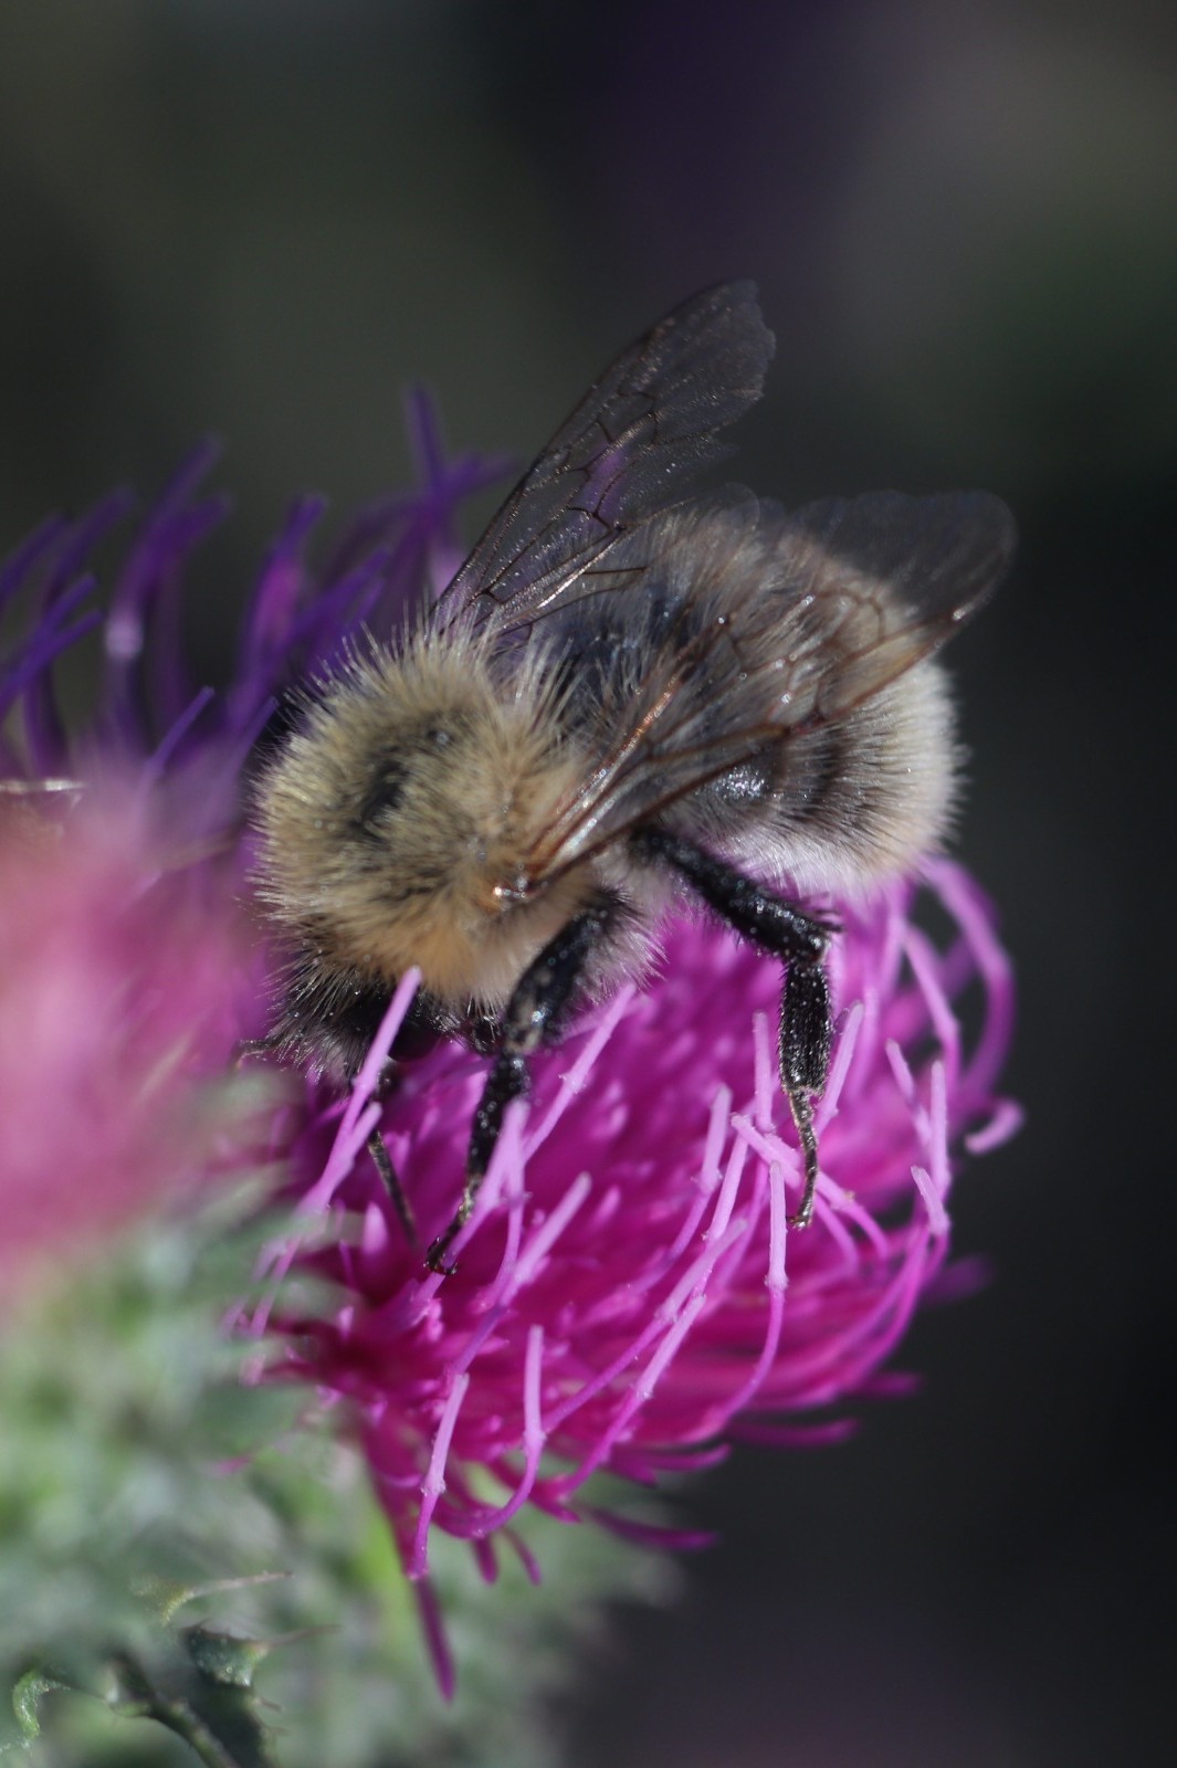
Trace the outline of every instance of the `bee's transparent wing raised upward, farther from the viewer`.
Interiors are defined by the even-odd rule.
[[[730,449],[719,431],[760,398],[772,357],[753,283],[675,308],[585,394],[525,472],[435,621],[509,629],[553,606],[636,523]]]

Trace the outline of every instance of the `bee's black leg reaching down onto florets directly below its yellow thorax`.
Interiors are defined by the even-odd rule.
[[[426,1262],[431,1271],[442,1271],[444,1275],[454,1271],[454,1266],[445,1262],[445,1254],[470,1220],[474,1200],[498,1142],[507,1105],[521,1098],[528,1089],[527,1057],[543,1043],[551,1043],[558,1038],[569,1004],[576,995],[585,958],[608,934],[615,916],[617,905],[606,898],[574,916],[567,926],[562,926],[548,941],[539,956],[528,964],[514,994],[507,1001],[502,1015],[498,1055],[482,1089],[479,1109],[474,1114],[461,1202],[445,1232],[438,1234],[429,1246]]]

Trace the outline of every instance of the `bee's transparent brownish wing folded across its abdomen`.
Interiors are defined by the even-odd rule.
[[[661,546],[656,520],[617,552],[626,617],[642,617],[659,582],[687,580],[691,550],[710,566],[640,679],[617,695],[606,753],[532,856],[535,880],[721,774],[847,718],[983,606],[1014,546],[1009,511],[981,492],[878,492],[792,516],[716,502],[663,520],[673,532]],[[626,576],[627,550],[642,550],[647,564],[636,583]],[[732,571],[719,582],[725,555]],[[610,573],[597,582],[608,592]]]

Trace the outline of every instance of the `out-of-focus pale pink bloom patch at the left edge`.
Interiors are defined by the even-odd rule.
[[[78,801],[74,801],[74,797]],[[0,797],[0,1282],[171,1208],[209,1160],[240,914],[166,872],[141,794]]]

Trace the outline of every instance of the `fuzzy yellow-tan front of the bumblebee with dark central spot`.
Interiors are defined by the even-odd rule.
[[[258,790],[258,884],[332,962],[470,990],[525,914],[528,850],[574,774],[543,693],[502,690],[474,647],[355,659],[306,705]]]

